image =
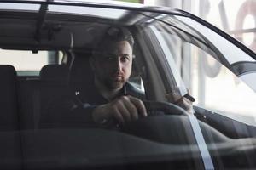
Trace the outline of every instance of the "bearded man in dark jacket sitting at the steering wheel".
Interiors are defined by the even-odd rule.
[[[89,83],[91,86],[87,87],[82,102],[78,102],[77,97],[62,99],[49,108],[49,115],[41,122],[61,127],[81,123],[89,127],[113,127],[148,116],[143,104],[144,94],[127,82],[131,76],[133,44],[130,31],[122,27],[109,28],[90,58],[94,82]],[[182,98],[179,102],[191,107],[188,99]]]

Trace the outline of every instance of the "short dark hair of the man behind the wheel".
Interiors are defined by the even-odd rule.
[[[127,41],[133,48],[134,39],[131,32],[125,27],[109,27],[103,34],[101,41],[96,44],[94,53],[99,53],[108,49],[109,44],[115,42]]]

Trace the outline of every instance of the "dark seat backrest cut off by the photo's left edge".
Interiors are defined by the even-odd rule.
[[[16,71],[12,65],[0,65],[0,130],[18,130]]]

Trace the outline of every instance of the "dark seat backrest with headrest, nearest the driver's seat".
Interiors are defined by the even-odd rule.
[[[36,103],[39,105],[35,118],[36,127],[48,123],[52,117],[51,109],[69,95],[69,69],[67,65],[45,65],[40,71],[40,88]],[[56,111],[58,111],[56,109]],[[58,114],[58,113],[56,113]]]

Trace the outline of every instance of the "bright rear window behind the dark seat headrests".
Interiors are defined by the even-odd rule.
[[[61,64],[60,51],[32,51],[0,49],[1,65],[13,65],[18,76],[38,76],[44,65]]]

